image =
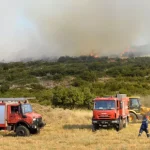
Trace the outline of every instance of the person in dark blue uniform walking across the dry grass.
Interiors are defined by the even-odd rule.
[[[143,116],[142,124],[141,124],[140,130],[139,130],[138,136],[141,136],[143,131],[146,133],[147,137],[150,137],[149,131],[148,131],[148,115]]]

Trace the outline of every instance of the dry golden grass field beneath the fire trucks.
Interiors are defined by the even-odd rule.
[[[38,135],[15,137],[0,131],[0,150],[150,150],[150,139],[138,138],[140,123],[116,132],[91,131],[92,111],[63,110],[33,104],[47,125]]]

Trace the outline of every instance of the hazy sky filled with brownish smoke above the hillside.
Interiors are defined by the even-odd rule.
[[[149,0],[0,0],[0,60],[99,56],[150,42]]]

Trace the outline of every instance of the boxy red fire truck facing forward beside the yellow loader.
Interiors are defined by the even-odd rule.
[[[129,121],[129,98],[126,94],[116,97],[97,97],[94,99],[92,130],[114,127],[117,131],[126,127]]]

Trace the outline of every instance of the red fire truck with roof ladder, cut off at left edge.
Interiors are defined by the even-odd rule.
[[[0,98],[0,130],[13,130],[17,136],[39,133],[45,123],[33,112],[29,99]]]

